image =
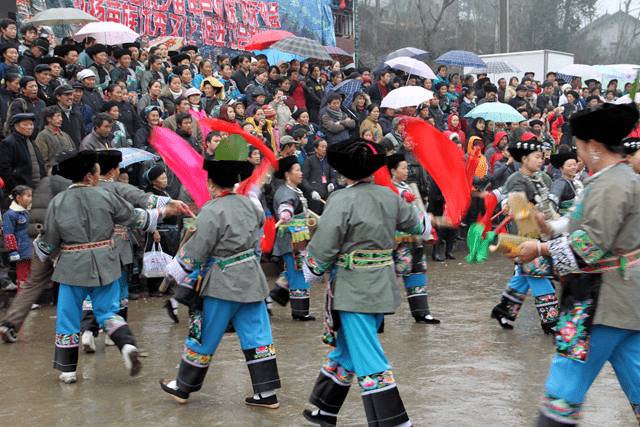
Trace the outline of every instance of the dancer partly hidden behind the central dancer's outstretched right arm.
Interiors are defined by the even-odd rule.
[[[400,197],[407,203],[415,200],[411,188],[404,182],[409,175],[409,167],[404,154],[392,154],[387,157],[387,168],[393,185]],[[427,298],[427,256],[424,242],[414,235],[396,231],[396,248],[393,251],[396,275],[402,277],[409,300],[411,315],[416,323],[438,324],[440,321],[431,315]]]

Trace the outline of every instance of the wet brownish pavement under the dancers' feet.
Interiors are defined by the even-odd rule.
[[[506,331],[489,318],[508,282],[512,265],[494,256],[481,265],[460,259],[429,262],[429,304],[441,325],[417,325],[406,299],[385,320],[380,341],[392,365],[414,426],[533,426],[553,338],[541,329],[529,295]],[[271,278],[273,282],[275,278]],[[312,285],[312,314],[321,317],[324,284]],[[404,292],[403,292],[404,294]],[[329,348],[322,322],[293,322],[289,307],[271,318],[282,389],[280,408],[248,407],[252,394],[240,342],[226,334],[214,355],[202,390],[180,405],[160,390],[160,378],[174,379],[187,334],[186,308],[174,325],[163,299],[132,301],[129,323],[138,346],[149,352],[135,378],[127,375],[116,347],[97,338],[94,354],[80,355],[76,384],[58,381],[52,369],[55,308],[33,311],[16,344],[0,344],[1,426],[311,426],[301,416]],[[0,311],[4,316],[4,311]],[[637,425],[616,376],[607,364],[588,394],[581,426]],[[357,385],[338,425],[364,426]]]

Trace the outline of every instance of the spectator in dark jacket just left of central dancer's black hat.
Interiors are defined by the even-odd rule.
[[[313,142],[315,155],[307,157],[302,164],[302,183],[300,188],[309,202],[309,209],[322,215],[324,204],[319,200],[327,200],[329,193],[337,185],[336,173],[325,158],[327,141],[322,138]]]

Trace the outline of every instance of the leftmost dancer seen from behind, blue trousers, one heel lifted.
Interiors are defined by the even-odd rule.
[[[137,375],[142,365],[135,339],[118,315],[121,274],[120,257],[113,250],[114,224],[153,230],[168,208],[134,209],[116,194],[96,188],[100,166],[95,152],[69,150],[59,156],[53,173],[74,183],[53,198],[45,232],[34,241],[41,260],[61,248],[53,274],[53,280],[60,283],[53,366],[62,371],[62,381],[76,382],[82,302],[91,296],[98,322],[120,349],[129,373]]]

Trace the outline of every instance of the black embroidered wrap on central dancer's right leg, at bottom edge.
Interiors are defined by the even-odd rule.
[[[358,377],[369,427],[394,427],[409,421],[391,371]]]

